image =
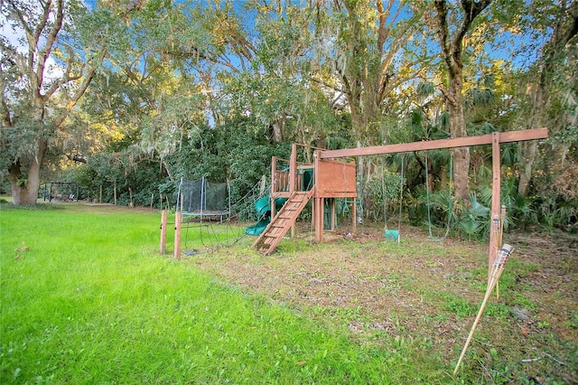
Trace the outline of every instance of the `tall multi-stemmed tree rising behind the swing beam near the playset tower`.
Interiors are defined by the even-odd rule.
[[[344,97],[354,136],[367,145],[392,91],[419,73],[415,62],[407,60],[406,49],[420,14],[393,0],[336,0],[327,9],[320,2],[315,6],[312,79]]]

